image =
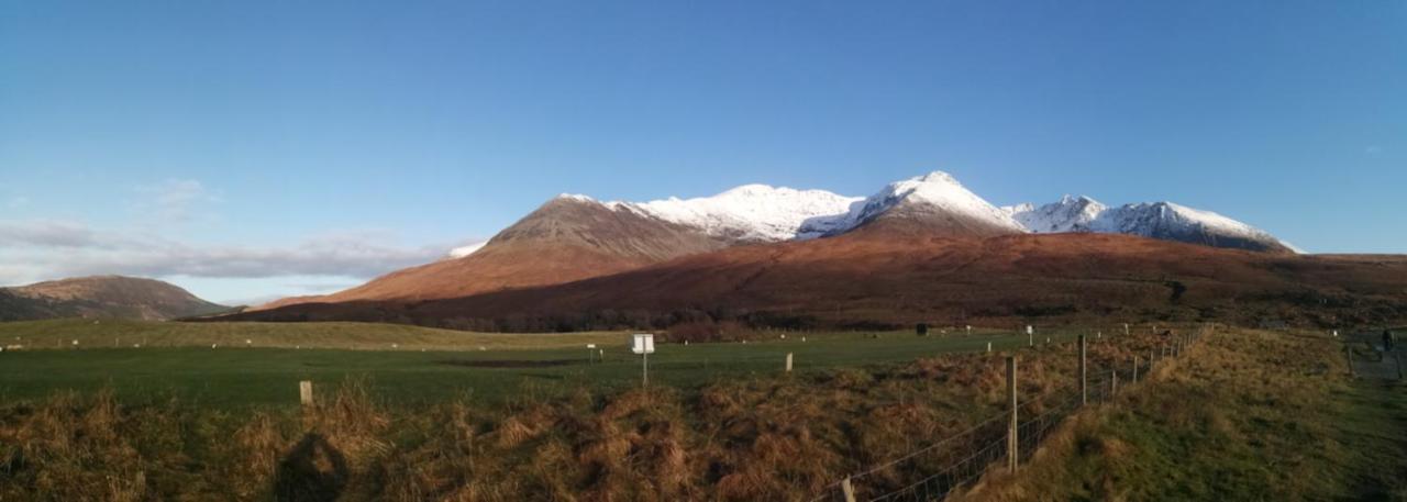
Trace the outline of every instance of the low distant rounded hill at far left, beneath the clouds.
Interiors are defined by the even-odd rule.
[[[162,321],[225,311],[229,308],[152,278],[94,276],[0,288],[0,321],[56,318]]]

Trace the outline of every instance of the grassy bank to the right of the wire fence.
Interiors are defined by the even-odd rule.
[[[967,499],[1407,501],[1407,385],[1349,378],[1323,335],[1221,333],[1190,356]]]

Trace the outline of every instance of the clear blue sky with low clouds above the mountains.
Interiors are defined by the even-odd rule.
[[[1407,252],[1407,3],[0,0],[0,284],[324,292],[557,193],[934,169]]]

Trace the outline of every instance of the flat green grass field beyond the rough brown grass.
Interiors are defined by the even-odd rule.
[[[1075,335],[1069,329],[1041,330],[1037,340],[1062,342]],[[795,371],[816,371],[978,352],[988,342],[993,350],[1027,345],[1024,335],[995,330],[926,337],[912,332],[781,336],[749,343],[661,343],[650,356],[650,380],[694,388],[720,378],[775,375],[782,373],[787,353],[794,353]],[[0,353],[0,398],[39,399],[107,387],[124,402],[176,397],[221,408],[293,406],[300,380],[321,390],[362,380],[388,402],[467,398],[498,404],[580,387],[609,392],[640,385],[640,356],[629,352],[628,339],[628,333],[502,335],[364,323],[0,323],[0,340],[27,343],[24,350]],[[76,349],[72,340],[79,340]],[[588,363],[588,343],[604,350],[604,360],[598,356]]]

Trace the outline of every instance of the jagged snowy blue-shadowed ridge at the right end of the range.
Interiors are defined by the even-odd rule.
[[[1297,252],[1294,246],[1240,221],[1173,202],[1107,207],[1089,197],[1061,197],[1036,207],[1020,204],[1002,211],[1036,233],[1099,232],[1179,240],[1214,247]]]

